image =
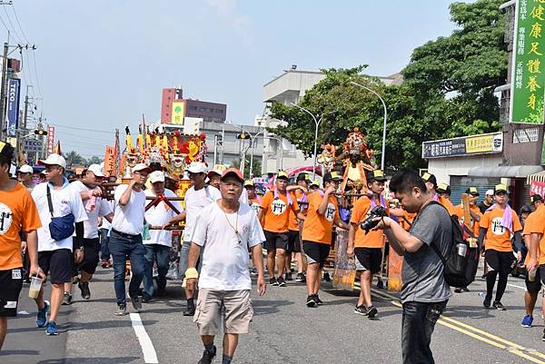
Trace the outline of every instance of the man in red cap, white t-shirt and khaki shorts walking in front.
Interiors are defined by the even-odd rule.
[[[239,334],[248,333],[253,318],[249,249],[258,271],[259,295],[263,296],[266,290],[261,246],[265,236],[257,214],[239,202],[243,182],[243,173],[239,170],[230,168],[223,172],[222,199],[203,208],[193,233],[185,277],[190,291],[196,288],[196,279],[199,279],[194,321],[204,345],[200,364],[211,363],[216,355],[213,339],[219,333],[222,319],[223,363],[231,363]],[[203,268],[199,277],[195,267],[201,251]]]

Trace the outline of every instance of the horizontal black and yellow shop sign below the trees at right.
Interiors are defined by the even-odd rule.
[[[422,158],[456,157],[478,153],[501,152],[503,134],[490,133],[422,143]]]

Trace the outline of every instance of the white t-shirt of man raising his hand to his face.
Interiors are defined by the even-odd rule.
[[[120,184],[115,189],[115,211],[112,229],[125,234],[141,234],[144,231],[145,193],[144,191],[136,192],[133,190],[129,203],[122,206],[119,200],[127,187],[129,187],[128,184]]]

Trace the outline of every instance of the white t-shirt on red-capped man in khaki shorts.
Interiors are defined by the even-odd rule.
[[[265,235],[257,214],[250,206],[241,203],[238,212],[227,214],[217,202],[206,206],[197,221],[192,241],[203,247],[199,287],[213,290],[252,289],[248,247],[261,244],[265,241]]]

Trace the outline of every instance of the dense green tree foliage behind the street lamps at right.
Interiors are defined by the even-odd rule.
[[[354,126],[368,133],[380,160],[383,109],[362,84],[384,99],[388,109],[386,165],[419,168],[421,143],[500,130],[498,99],[493,90],[505,84],[508,55],[503,42],[505,15],[500,0],[451,5],[459,26],[451,36],[416,48],[402,71],[404,83],[385,86],[362,74],[367,65],[322,70],[326,77],[308,90],[299,106],[317,120],[318,152],[325,143],[341,145]],[[272,103],[272,117],[283,126],[270,129],[312,155],[315,123],[302,110]]]

